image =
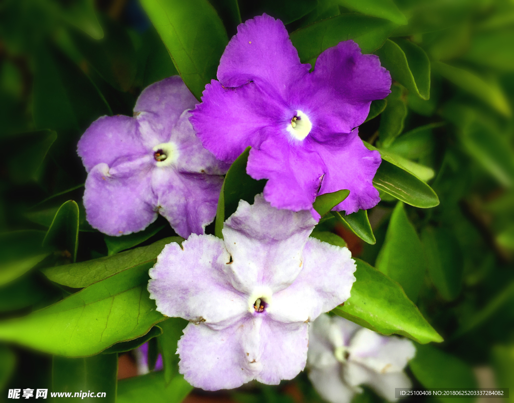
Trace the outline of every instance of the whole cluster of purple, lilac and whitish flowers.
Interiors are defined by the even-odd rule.
[[[350,298],[355,262],[348,249],[309,237],[320,218],[313,201],[348,189],[336,210],[349,214],[378,203],[372,179],[380,155],[366,149],[357,126],[371,101],[390,93],[391,77],[353,41],[325,50],[310,68],[282,22],[264,14],[238,27],[203,102],[170,77],[143,90],[134,117],[102,117],[79,141],[93,227],[129,234],[159,213],[187,238],[164,248],[148,289],[159,312],[191,322],[177,353],[180,373],[195,387],[292,379],[306,365],[311,322]],[[206,235],[222,175],[247,146],[247,173],[267,179],[264,193],[253,205],[240,201],[223,240]],[[312,357],[323,356],[317,328],[327,321],[322,316],[310,327],[315,385],[325,382],[326,368]],[[348,352],[348,362],[371,370],[382,365],[381,358],[359,355],[363,344],[379,343],[366,332],[340,335],[331,365]],[[346,344],[346,336],[357,341]],[[391,365],[398,370],[396,361]],[[362,371],[344,378],[346,395],[369,380]]]

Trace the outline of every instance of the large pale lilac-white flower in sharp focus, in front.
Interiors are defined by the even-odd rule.
[[[309,238],[308,211],[241,200],[224,240],[191,235],[167,245],[150,270],[157,310],[191,321],[179,372],[206,390],[252,379],[292,379],[307,359],[308,323],[350,297],[356,267],[346,248]]]

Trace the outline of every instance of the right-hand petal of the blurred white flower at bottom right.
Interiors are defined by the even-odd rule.
[[[381,374],[402,371],[416,354],[412,341],[382,336],[366,328],[355,334],[348,351],[352,361]]]

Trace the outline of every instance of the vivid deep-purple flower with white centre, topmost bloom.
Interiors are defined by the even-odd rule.
[[[232,162],[252,146],[246,167],[268,179],[273,207],[310,210],[318,194],[350,190],[335,210],[375,206],[380,154],[357,133],[371,101],[391,91],[391,76],[353,41],[326,49],[309,73],[284,24],[257,16],[237,28],[190,118],[205,148]]]

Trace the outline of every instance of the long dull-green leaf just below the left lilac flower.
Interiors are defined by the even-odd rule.
[[[171,242],[181,244],[182,241],[183,239],[179,236],[171,236],[154,242],[152,245],[127,250],[105,258],[49,267],[43,269],[42,272],[49,280],[58,284],[72,288],[87,287],[126,269],[138,267],[138,269],[149,270],[155,264],[157,255],[164,246]]]

